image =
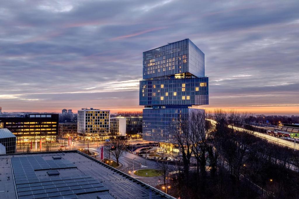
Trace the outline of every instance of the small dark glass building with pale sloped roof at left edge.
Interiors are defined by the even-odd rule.
[[[16,136],[8,129],[0,129],[0,154],[16,153]]]

